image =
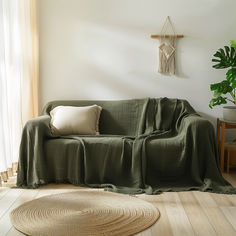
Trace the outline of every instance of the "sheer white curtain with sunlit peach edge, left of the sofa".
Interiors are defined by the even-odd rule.
[[[0,176],[4,180],[18,161],[23,123],[37,115],[32,112],[37,110],[38,95],[37,42],[32,43],[35,7],[34,0],[0,0]]]

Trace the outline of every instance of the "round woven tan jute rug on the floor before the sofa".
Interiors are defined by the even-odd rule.
[[[14,209],[11,222],[26,235],[133,235],[159,218],[150,203],[100,190],[54,194]]]

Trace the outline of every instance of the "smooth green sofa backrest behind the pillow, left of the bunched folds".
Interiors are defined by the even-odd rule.
[[[148,99],[52,101],[44,107],[43,114],[49,114],[57,106],[96,104],[102,107],[99,121],[100,134],[135,136],[142,132],[147,102]]]

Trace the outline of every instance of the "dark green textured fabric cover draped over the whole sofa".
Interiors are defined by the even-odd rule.
[[[53,136],[58,105],[103,108],[99,136]],[[46,183],[121,193],[200,190],[236,193],[221,175],[214,128],[185,100],[56,101],[24,127],[17,186]]]

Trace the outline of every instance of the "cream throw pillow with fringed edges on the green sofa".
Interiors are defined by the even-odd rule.
[[[55,107],[50,111],[52,132],[60,135],[98,135],[101,110],[97,105]]]

